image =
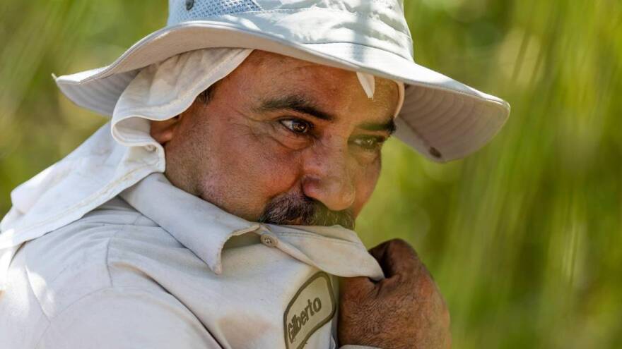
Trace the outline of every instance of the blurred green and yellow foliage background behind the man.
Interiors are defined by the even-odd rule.
[[[0,214],[105,118],[50,76],[105,66],[166,1],[0,1]],[[412,243],[453,348],[622,348],[622,2],[406,0],[416,61],[512,104],[490,145],[432,164],[398,140],[358,220]]]

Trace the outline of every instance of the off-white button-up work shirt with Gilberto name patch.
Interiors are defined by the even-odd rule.
[[[335,348],[335,276],[382,278],[353,231],[245,221],[154,173],[20,247],[0,348]]]

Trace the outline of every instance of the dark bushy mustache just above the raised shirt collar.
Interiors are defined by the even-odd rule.
[[[332,211],[326,205],[304,195],[284,195],[274,198],[259,217],[260,223],[302,226],[334,226],[354,228],[351,209]]]

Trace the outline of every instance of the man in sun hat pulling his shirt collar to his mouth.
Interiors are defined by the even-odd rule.
[[[449,161],[509,107],[411,49],[398,1],[170,1],[57,78],[112,121],[12,193],[0,347],[448,348],[411,247],[350,229],[390,135]]]

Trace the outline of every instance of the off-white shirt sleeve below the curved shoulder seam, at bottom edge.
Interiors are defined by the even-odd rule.
[[[172,295],[139,288],[105,288],[50,319],[37,348],[220,349],[221,346]]]

